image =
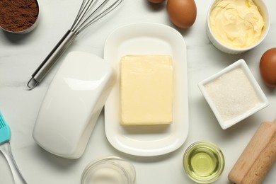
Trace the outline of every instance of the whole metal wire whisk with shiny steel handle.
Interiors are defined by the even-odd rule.
[[[32,74],[32,78],[28,81],[28,88],[31,90],[37,86],[46,74],[50,71],[59,57],[71,45],[77,35],[86,29],[89,25],[106,16],[122,3],[122,0],[84,0],[79,8],[71,28],[65,33],[54,49],[47,55],[38,69]]]

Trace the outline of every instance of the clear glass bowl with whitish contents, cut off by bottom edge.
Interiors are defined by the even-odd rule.
[[[117,156],[108,156],[92,161],[81,176],[81,184],[134,184],[136,171],[134,166]]]

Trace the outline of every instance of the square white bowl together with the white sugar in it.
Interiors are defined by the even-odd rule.
[[[198,86],[224,130],[268,106],[268,98],[243,59]]]

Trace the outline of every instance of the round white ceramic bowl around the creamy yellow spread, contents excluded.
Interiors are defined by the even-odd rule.
[[[257,45],[259,45],[260,42],[263,42],[263,40],[265,39],[265,36],[268,35],[268,30],[270,29],[270,16],[268,13],[268,8],[267,8],[267,6],[265,6],[265,2],[263,0],[254,0],[255,4],[258,6],[260,13],[262,14],[263,19],[265,21],[265,29],[263,30],[263,35],[260,38],[260,40],[258,40],[258,42],[255,42],[254,45],[251,45],[250,47],[244,47],[244,48],[229,47],[229,46],[225,45],[223,42],[219,41],[216,38],[216,35],[214,35],[214,33],[212,32],[209,17],[210,17],[212,8],[217,3],[217,1],[220,1],[220,0],[214,0],[212,5],[209,7],[209,11],[207,13],[207,24],[206,24],[207,36],[208,36],[209,40],[212,42],[212,44],[215,47],[217,47],[217,49],[221,50],[222,52],[229,53],[229,54],[240,54],[240,53],[243,53],[243,52],[253,49]]]

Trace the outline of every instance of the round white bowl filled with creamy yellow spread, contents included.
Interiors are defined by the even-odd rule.
[[[263,0],[215,0],[207,13],[207,36],[222,52],[239,54],[265,39],[270,28]]]

